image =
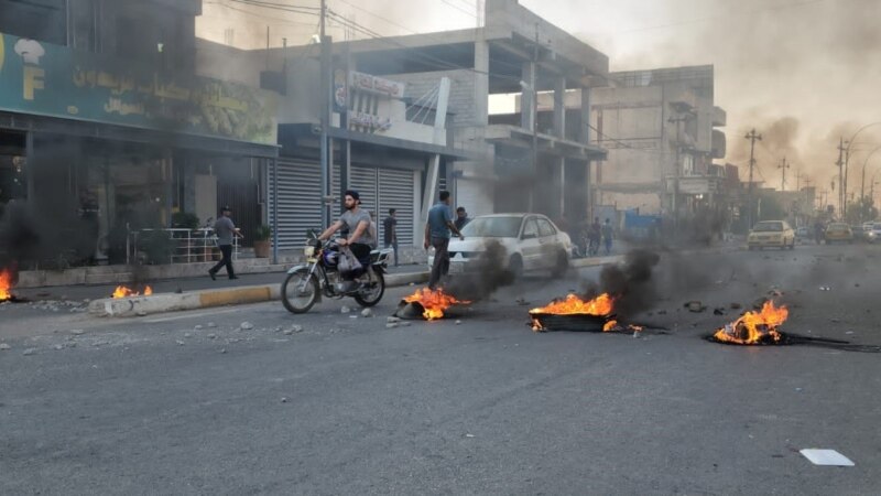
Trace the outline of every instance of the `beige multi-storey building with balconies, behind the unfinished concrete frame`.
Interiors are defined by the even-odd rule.
[[[611,73],[592,91],[592,142],[608,150],[595,171],[595,206],[681,218],[714,204],[725,181],[725,111],[714,105],[711,65]],[[579,108],[569,94],[567,108]],[[540,99],[551,111],[552,97]]]

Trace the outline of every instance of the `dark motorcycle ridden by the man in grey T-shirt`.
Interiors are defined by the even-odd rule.
[[[312,229],[306,236],[303,251],[306,263],[291,268],[282,283],[282,304],[289,312],[308,312],[322,301],[322,295],[333,299],[350,296],[361,306],[373,306],[382,300],[385,293],[384,274],[389,257],[393,254],[391,248],[372,250],[369,263],[361,269],[363,273],[354,281],[344,281],[338,269],[341,257],[339,245],[322,241]]]

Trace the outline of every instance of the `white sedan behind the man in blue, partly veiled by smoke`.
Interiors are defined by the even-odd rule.
[[[572,240],[541,214],[493,214],[471,219],[461,229],[465,240],[449,240],[449,273],[468,270],[490,240],[499,241],[507,251],[507,267],[520,276],[525,271],[551,270],[562,276],[569,267]],[[428,266],[434,262],[429,254]]]

